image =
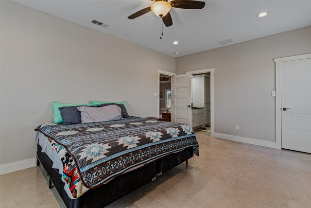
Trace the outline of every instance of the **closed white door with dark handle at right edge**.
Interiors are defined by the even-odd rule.
[[[282,148],[311,153],[311,59],[281,63]]]

